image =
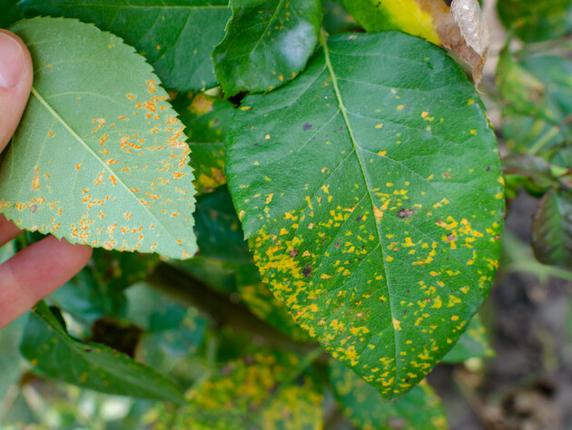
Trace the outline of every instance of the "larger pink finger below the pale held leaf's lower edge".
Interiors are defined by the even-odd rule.
[[[0,328],[72,279],[91,255],[89,247],[48,236],[0,265]]]

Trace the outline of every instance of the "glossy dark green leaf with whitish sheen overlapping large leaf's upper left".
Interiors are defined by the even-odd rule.
[[[320,0],[233,0],[226,36],[214,48],[214,73],[227,97],[266,92],[305,67],[320,33]]]

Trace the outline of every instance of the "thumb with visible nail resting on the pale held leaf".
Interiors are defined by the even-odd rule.
[[[14,134],[32,87],[32,58],[24,42],[0,30],[0,151]]]

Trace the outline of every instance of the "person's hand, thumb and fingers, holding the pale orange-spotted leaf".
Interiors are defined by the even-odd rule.
[[[32,59],[25,44],[15,34],[0,30],[0,151],[20,122],[32,79]],[[0,246],[21,232],[0,214]],[[48,236],[0,265],[0,328],[64,285],[91,255],[89,247]]]

